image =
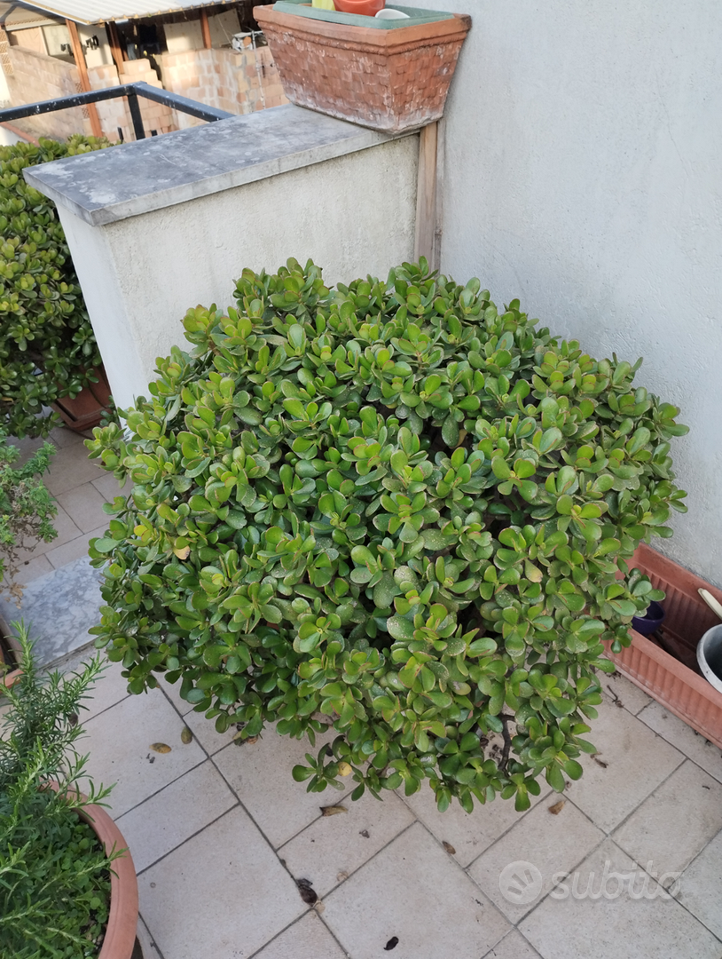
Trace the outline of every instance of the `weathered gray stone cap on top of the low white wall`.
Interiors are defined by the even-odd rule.
[[[35,190],[101,226],[393,139],[288,104],[65,157],[23,173]]]

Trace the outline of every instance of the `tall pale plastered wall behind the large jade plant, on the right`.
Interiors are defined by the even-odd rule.
[[[472,14],[446,110],[442,269],[683,409],[664,549],[722,584],[722,5],[434,0]]]

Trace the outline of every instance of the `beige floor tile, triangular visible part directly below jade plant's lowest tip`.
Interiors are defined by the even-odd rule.
[[[551,792],[543,779],[540,785],[539,796],[531,797],[533,805]],[[440,812],[434,792],[426,783],[421,784],[419,792],[413,796],[402,796],[402,799],[440,842],[448,842],[454,847],[456,859],[464,867],[525,815],[514,809],[513,800],[507,801],[499,797],[486,806],[475,801],[474,811],[471,813],[464,812],[459,803],[452,800],[451,806],[445,812]]]

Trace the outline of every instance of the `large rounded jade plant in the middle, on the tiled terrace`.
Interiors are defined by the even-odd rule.
[[[332,724],[311,790],[522,810],[579,777],[604,643],[662,596],[630,558],[686,508],[687,430],[641,361],[536,323],[423,260],[335,289],[246,269],[237,309],[192,309],[192,351],[87,444],[132,485],[91,543],[130,689],[180,682],[241,738]]]

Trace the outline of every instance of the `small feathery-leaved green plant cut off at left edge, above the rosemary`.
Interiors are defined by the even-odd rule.
[[[50,543],[57,535],[53,526],[57,507],[41,479],[55,449],[51,443],[44,443],[23,466],[15,467],[20,451],[0,433],[0,592],[15,602],[19,602],[23,590],[15,579],[21,550],[38,540]],[[0,670],[6,667],[0,675],[0,686],[10,685],[19,674],[18,649],[11,628],[0,617]]]

